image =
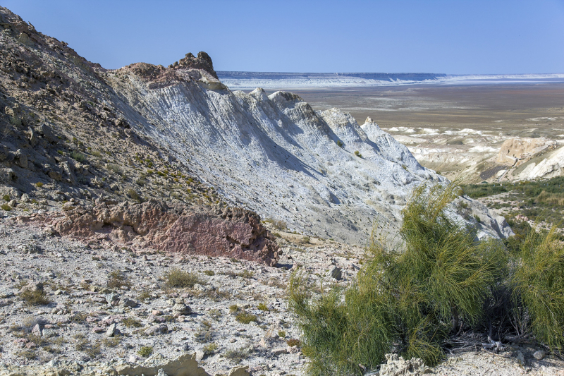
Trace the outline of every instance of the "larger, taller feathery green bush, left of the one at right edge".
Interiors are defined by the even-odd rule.
[[[304,274],[290,277],[289,307],[298,316],[311,375],[374,369],[391,351],[434,365],[460,320],[479,322],[503,247],[474,241],[474,231],[451,219],[448,207],[458,193],[455,184],[415,188],[400,241],[388,246],[373,239],[348,289],[313,298]]]

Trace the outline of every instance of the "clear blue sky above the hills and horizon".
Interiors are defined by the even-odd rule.
[[[564,0],[4,0],[105,68],[207,51],[218,71],[564,73]]]

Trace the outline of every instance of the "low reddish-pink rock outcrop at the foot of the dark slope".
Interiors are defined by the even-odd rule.
[[[38,216],[36,221],[63,236],[170,253],[235,257],[269,266],[276,265],[280,254],[259,215],[240,208],[100,202],[67,207],[58,217]]]

